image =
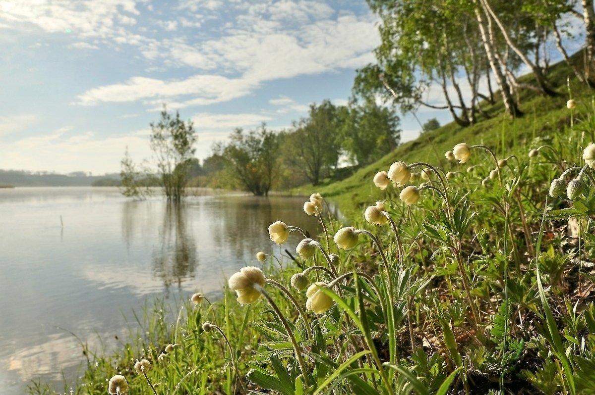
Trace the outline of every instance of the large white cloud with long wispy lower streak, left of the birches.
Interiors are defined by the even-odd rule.
[[[288,4],[284,1],[280,7],[305,10],[309,2]],[[278,30],[274,26],[271,29]],[[317,20],[297,30],[266,34],[254,30],[229,32],[218,39],[192,44],[177,37],[143,46],[142,53],[149,59],[162,59],[211,74],[196,74],[183,80],[131,77],[124,83],[87,90],[77,97],[76,104],[143,100],[160,108],[160,103],[172,100],[171,108],[179,109],[227,102],[252,93],[265,81],[362,66],[372,61],[372,49],[378,42],[373,21],[351,14],[341,15],[337,20]],[[239,74],[239,77],[224,74]]]

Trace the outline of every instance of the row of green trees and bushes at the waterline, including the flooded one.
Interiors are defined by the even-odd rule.
[[[399,117],[374,102],[336,106],[330,100],[312,104],[308,116],[292,127],[272,131],[265,124],[237,128],[227,141],[212,147],[201,163],[193,157],[196,134],[179,113],[161,112],[151,124],[156,162],[134,163],[128,149],[121,160],[121,192],[144,198],[158,185],[171,201],[186,187],[242,189],[267,195],[273,188],[332,178],[339,166],[363,166],[393,150],[400,140]]]

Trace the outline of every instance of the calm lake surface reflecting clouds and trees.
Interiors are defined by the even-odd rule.
[[[303,201],[201,195],[171,207],[115,188],[0,189],[0,394],[24,394],[30,380],[61,389],[62,372],[76,380],[71,333],[109,352],[155,297],[216,299],[226,276],[259,266],[256,252],[281,253],[268,238],[275,220],[317,232]],[[292,232],[283,248],[297,242]]]

